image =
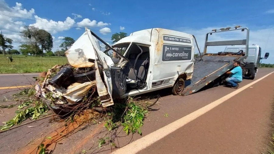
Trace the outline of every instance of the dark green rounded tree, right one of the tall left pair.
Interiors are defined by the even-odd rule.
[[[37,31],[37,41],[41,45],[42,56],[44,56],[44,50],[50,51],[53,47],[53,38],[51,33],[46,30],[38,30]]]

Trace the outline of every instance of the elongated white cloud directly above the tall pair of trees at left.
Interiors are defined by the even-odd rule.
[[[57,33],[64,30],[69,30],[71,26],[74,25],[75,21],[71,19],[70,17],[67,17],[65,21],[54,21],[54,20],[47,20],[40,18],[38,16],[34,16],[36,19],[36,23],[30,24],[30,26],[35,26],[39,29],[47,30],[50,33]]]

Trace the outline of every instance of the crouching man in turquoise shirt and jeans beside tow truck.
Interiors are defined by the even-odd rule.
[[[242,68],[239,61],[234,62],[234,68],[231,71],[228,71],[226,74],[229,74],[229,77],[226,79],[226,82],[231,85],[231,88],[238,88],[240,82],[243,80]]]

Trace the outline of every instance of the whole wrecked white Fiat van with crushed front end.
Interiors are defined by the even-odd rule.
[[[98,40],[109,48],[101,51]],[[96,84],[103,107],[113,105],[113,99],[168,87],[173,87],[174,95],[180,95],[184,81],[192,78],[194,42],[195,37],[190,34],[152,28],[131,33],[111,47],[86,29],[65,52],[70,67],[46,79],[43,88],[54,92],[56,98],[65,97],[59,103],[73,103],[83,99],[91,85]],[[125,53],[122,55],[114,48]],[[105,54],[109,51],[116,52],[121,59]]]

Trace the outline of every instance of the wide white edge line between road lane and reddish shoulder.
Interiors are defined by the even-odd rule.
[[[273,73],[273,72],[272,72]],[[206,105],[205,107],[202,107],[194,112],[192,112],[191,114],[188,114],[184,117],[182,117],[181,119],[178,119],[120,149],[115,150],[112,153],[137,153],[142,149],[145,149],[146,147],[148,147],[149,145],[152,145],[153,143],[157,142],[158,140],[164,138],[165,136],[169,135],[170,133],[176,131],[177,129],[183,127],[185,124],[195,120],[196,118],[200,117],[201,115],[205,114],[206,112],[208,112],[209,110],[212,110],[214,107],[220,105],[221,103],[225,102],[226,100],[230,99],[231,97],[235,96],[236,94],[240,93],[241,91],[243,91],[244,89],[247,89],[248,87],[250,87],[251,85],[261,81],[262,79],[264,79],[265,77],[271,75],[272,73],[269,73],[268,75],[263,76],[260,79],[257,79],[251,83],[249,83],[246,86],[243,86],[240,89],[235,90],[234,92],[223,96],[222,98]]]

